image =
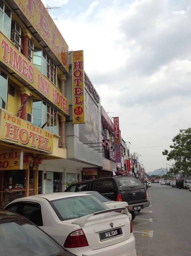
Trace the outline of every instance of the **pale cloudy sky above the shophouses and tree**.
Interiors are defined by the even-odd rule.
[[[119,116],[130,153],[141,155],[146,172],[166,168],[162,151],[191,127],[191,1],[54,0],[53,6],[61,7],[49,14],[69,50],[84,50],[101,105]]]

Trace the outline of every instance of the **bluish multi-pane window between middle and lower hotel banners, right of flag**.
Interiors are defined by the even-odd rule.
[[[46,104],[46,102],[42,100],[33,100],[32,113],[34,125],[42,127],[42,125],[49,120],[44,126],[44,129],[47,129],[51,133],[58,133],[57,111],[48,104]]]

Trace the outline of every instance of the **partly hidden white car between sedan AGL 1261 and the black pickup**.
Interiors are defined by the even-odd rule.
[[[88,195],[93,195],[96,197],[99,201],[101,201],[104,205],[106,205],[109,209],[117,209],[121,207],[126,207],[128,209],[128,216],[130,220],[132,220],[132,215],[129,213],[129,206],[127,202],[117,202],[117,201],[112,201],[105,195],[102,195],[101,193],[97,191],[81,191],[81,192],[76,192],[76,193],[85,193]],[[121,212],[121,211],[120,211]]]

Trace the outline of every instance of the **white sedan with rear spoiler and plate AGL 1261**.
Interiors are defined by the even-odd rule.
[[[75,255],[136,256],[125,207],[119,213],[92,195],[64,192],[19,198],[5,208],[31,220]]]

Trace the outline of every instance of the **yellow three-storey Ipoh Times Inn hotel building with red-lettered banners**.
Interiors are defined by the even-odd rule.
[[[64,190],[67,74],[68,45],[42,2],[0,0],[0,207]]]

